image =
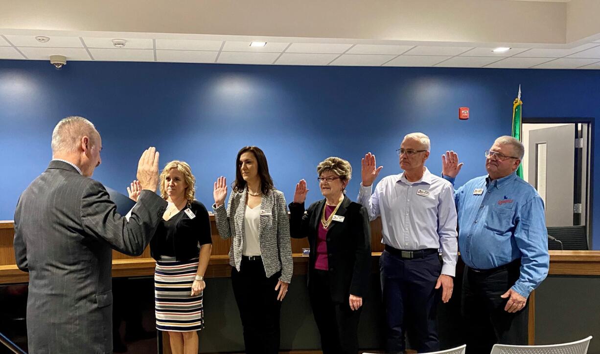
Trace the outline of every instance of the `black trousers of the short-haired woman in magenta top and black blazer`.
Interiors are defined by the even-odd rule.
[[[352,311],[348,298],[341,303],[333,301],[329,284],[328,271],[311,270],[308,295],[321,335],[321,349],[323,354],[356,354],[362,307]]]

